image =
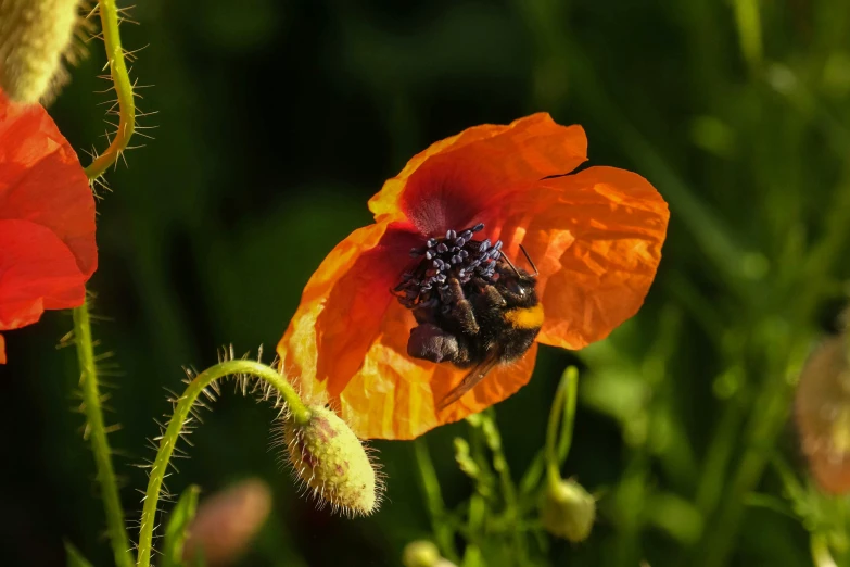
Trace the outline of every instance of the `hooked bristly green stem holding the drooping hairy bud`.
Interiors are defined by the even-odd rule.
[[[144,506],[141,515],[141,529],[139,530],[139,563],[141,567],[151,564],[151,545],[156,516],[156,506],[160,502],[160,491],[163,479],[168,468],[168,462],[174,453],[174,448],[180,438],[183,425],[201,392],[215,380],[231,375],[251,375],[268,382],[275,388],[289,406],[292,419],[297,424],[305,424],[310,418],[310,411],[301,401],[294,388],[274,368],[253,361],[228,361],[216,364],[199,374],[189,383],[183,394],[174,407],[174,415],[165,433],[160,440],[160,450],[151,467],[148,479],[148,490],[144,492]]]

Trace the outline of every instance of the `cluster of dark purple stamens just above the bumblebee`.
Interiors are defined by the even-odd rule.
[[[483,223],[461,230],[447,230],[444,238],[429,238],[424,247],[410,250],[419,264],[402,275],[402,281],[393,291],[407,308],[432,307],[440,303],[440,291],[445,291],[449,278],[461,286],[473,279],[492,282],[498,279],[497,261],[502,257],[502,240],[473,240],[472,236],[484,228]]]

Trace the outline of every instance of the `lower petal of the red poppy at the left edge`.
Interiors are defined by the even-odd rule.
[[[49,228],[29,220],[0,220],[0,329],[39,319],[45,310],[85,300],[88,279],[68,247]]]

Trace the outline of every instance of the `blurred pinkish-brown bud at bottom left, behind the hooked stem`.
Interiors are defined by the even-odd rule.
[[[201,501],[183,557],[202,556],[206,565],[232,564],[254,539],[271,511],[271,491],[259,479],[239,482]]]

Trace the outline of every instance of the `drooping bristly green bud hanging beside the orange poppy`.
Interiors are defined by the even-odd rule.
[[[289,418],[283,441],[297,477],[321,504],[348,516],[378,509],[381,484],[360,440],[331,410],[310,406],[304,424]]]

